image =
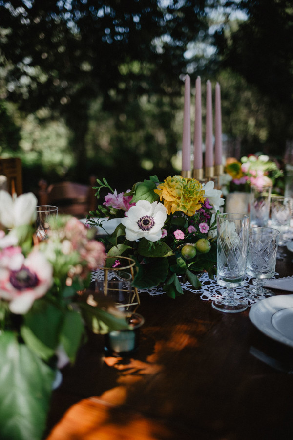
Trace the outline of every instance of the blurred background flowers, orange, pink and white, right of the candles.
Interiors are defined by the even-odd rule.
[[[229,157],[222,177],[222,189],[226,194],[232,191],[249,192],[251,185],[272,187],[282,176],[283,171],[267,155],[250,154],[241,157],[240,162]]]

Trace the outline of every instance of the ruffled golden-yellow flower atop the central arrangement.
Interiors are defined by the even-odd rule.
[[[188,216],[193,216],[206,199],[205,191],[198,180],[182,176],[168,176],[154,192],[164,201],[167,214],[182,211]]]

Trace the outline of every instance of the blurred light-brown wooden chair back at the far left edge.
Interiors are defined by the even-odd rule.
[[[5,186],[11,195],[22,194],[22,165],[19,157],[0,157],[0,176],[6,177]]]

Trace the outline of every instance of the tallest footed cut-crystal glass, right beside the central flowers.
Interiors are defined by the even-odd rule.
[[[227,287],[227,295],[212,302],[212,307],[226,313],[247,308],[235,298],[234,288],[243,286],[246,276],[249,217],[224,213],[217,216],[217,282]]]

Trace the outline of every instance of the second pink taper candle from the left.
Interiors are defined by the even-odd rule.
[[[203,167],[203,136],[202,136],[202,113],[201,113],[201,81],[200,77],[195,82],[195,121],[194,121],[194,170]]]

